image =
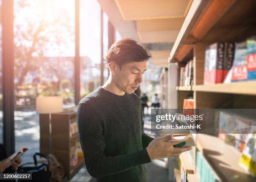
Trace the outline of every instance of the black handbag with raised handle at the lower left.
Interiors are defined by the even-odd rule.
[[[48,163],[38,163],[36,156],[45,158]],[[18,173],[32,173],[32,180],[30,182],[49,182],[51,177],[51,172],[49,171],[49,160],[47,157],[41,153],[36,152],[33,155],[34,162],[27,162],[21,165],[17,172]],[[28,182],[27,180],[18,180],[18,182]]]

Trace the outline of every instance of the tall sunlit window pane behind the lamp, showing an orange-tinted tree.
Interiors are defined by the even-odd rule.
[[[74,105],[74,0],[14,0],[15,149],[39,150],[38,95]]]

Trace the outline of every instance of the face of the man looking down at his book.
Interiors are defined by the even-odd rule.
[[[146,71],[146,60],[142,62],[128,62],[121,69],[116,65],[113,79],[116,86],[125,93],[133,93],[143,82],[142,76]]]

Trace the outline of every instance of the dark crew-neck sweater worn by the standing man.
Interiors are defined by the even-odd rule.
[[[98,87],[82,98],[77,111],[79,139],[89,174],[97,182],[146,182],[151,162],[140,101]]]

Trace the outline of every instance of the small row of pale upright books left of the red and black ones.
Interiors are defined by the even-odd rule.
[[[193,60],[187,62],[185,67],[180,68],[179,86],[193,85]]]

